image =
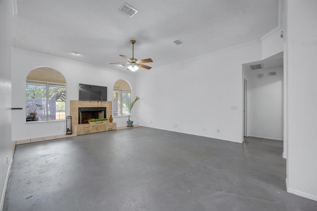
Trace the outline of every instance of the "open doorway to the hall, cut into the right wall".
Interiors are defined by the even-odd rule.
[[[283,140],[283,77],[283,52],[243,64],[244,137]]]

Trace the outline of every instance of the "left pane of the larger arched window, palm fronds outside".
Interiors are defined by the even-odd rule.
[[[46,84],[26,83],[26,115],[46,121]],[[35,114],[36,113],[36,114]]]

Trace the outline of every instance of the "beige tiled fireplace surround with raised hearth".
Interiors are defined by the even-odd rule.
[[[78,124],[78,108],[92,108],[92,107],[106,107],[106,118],[109,119],[112,114],[111,101],[89,101],[89,100],[70,100],[70,116],[72,117],[72,133],[75,135],[82,135],[94,132],[103,132],[108,130],[115,130],[116,123],[99,124],[90,126],[89,124]]]

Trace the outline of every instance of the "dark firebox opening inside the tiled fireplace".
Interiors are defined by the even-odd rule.
[[[106,107],[78,108],[78,124],[87,124],[88,120],[106,118]]]

